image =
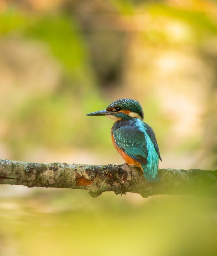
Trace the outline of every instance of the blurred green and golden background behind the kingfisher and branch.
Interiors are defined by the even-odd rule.
[[[0,157],[121,164],[141,102],[160,168],[217,168],[217,1],[0,0]],[[0,186],[0,255],[216,255],[217,200]]]

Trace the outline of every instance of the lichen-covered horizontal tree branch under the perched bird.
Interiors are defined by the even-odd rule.
[[[159,169],[161,181],[148,183],[142,171],[128,165],[27,163],[0,159],[0,184],[86,189],[91,196],[116,194],[188,194],[217,197],[217,170]]]

